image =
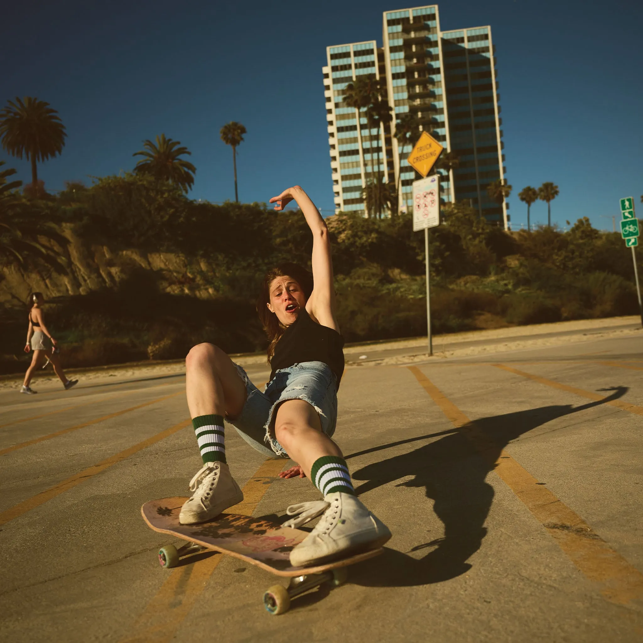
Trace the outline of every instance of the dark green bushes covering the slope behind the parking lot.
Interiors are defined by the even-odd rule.
[[[300,212],[192,201],[150,177],[70,184],[59,197],[15,207],[25,220],[67,226],[88,249],[160,250],[217,267],[173,277],[175,287],[198,279],[213,293],[207,301],[161,292],[155,273],[124,259],[117,287],[59,298],[46,314],[68,365],[183,358],[201,341],[262,350],[254,302],[266,269],[285,260],[310,267],[312,238]],[[631,255],[618,234],[594,230],[586,218],[567,233],[507,233],[464,203],[442,214],[429,237],[434,332],[637,312]],[[425,334],[424,235],[412,231],[411,215],[340,213],[327,222],[345,340]],[[0,311],[0,370],[24,367],[25,333],[26,309]]]

